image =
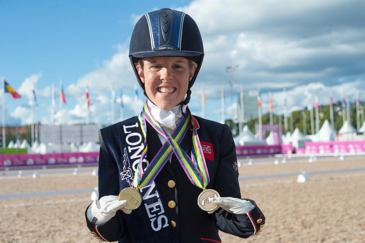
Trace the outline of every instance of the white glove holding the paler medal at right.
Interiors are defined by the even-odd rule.
[[[233,197],[211,197],[209,201],[222,207],[227,212],[235,214],[246,213],[255,207],[252,202]],[[213,213],[214,211],[209,211],[208,213]]]

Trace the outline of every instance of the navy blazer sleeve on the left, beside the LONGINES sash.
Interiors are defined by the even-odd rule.
[[[99,199],[109,195],[118,196],[118,185],[118,173],[105,150],[104,143],[101,142],[99,153]],[[118,210],[114,217],[102,225],[96,225],[94,220],[93,222],[90,222],[86,217],[87,226],[92,234],[97,234],[102,240],[114,242],[123,238],[123,240],[126,239],[124,242],[131,242],[131,240],[129,240],[130,235],[126,220],[123,216],[123,211]]]

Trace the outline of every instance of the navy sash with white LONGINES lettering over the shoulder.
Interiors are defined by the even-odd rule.
[[[105,149],[119,174],[119,190],[132,187],[137,163],[141,158],[144,139],[138,117],[100,130]],[[143,170],[149,161],[143,160]],[[178,242],[169,215],[155,183],[139,189],[142,203],[131,214],[124,214],[134,243]]]

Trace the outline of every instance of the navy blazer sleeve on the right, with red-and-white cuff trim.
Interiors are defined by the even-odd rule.
[[[238,183],[238,169],[235,166],[235,163],[237,163],[236,146],[231,130],[227,124],[223,125],[223,131],[219,141],[219,161],[214,187],[220,193],[221,197],[241,198]],[[260,225],[265,223],[265,216],[253,200],[245,200],[252,202],[255,206],[247,213],[229,213],[223,208],[213,213],[216,226],[220,231],[241,238],[248,238],[251,235],[257,234]],[[261,220],[258,220],[260,218]]]

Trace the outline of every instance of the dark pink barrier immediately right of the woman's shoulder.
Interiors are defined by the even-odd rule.
[[[292,153],[292,144],[236,146],[237,156]]]

